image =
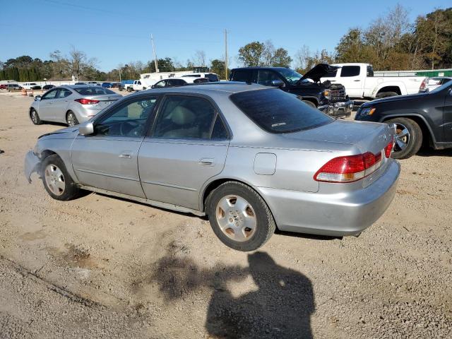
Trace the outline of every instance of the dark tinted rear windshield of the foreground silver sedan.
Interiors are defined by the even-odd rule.
[[[313,129],[334,120],[278,88],[235,93],[231,100],[249,119],[270,133]]]

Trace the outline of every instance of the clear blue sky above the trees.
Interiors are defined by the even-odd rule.
[[[411,20],[452,6],[450,0],[399,3],[410,10]],[[221,58],[227,29],[236,66],[239,47],[254,40],[272,40],[292,57],[303,44],[311,51],[333,51],[348,28],[365,28],[395,5],[390,0],[0,0],[0,61],[24,54],[49,59],[50,52],[67,54],[73,45],[108,71],[118,64],[152,59],[152,33],[157,57],[185,64],[197,50],[206,52],[208,60]]]

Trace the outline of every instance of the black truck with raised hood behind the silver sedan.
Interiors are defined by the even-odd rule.
[[[303,102],[322,112],[336,117],[350,116],[353,102],[345,93],[344,86],[340,83],[320,81],[323,76],[335,69],[337,69],[335,66],[318,64],[302,76],[285,67],[244,67],[232,69],[229,80],[277,86],[285,92],[297,95]]]

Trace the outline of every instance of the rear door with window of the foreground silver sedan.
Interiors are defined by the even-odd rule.
[[[197,210],[201,187],[225,166],[220,112],[206,97],[166,95],[154,125],[138,154],[146,198]]]

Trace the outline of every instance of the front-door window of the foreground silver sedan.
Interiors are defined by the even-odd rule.
[[[115,107],[109,114],[95,120],[95,135],[144,136],[146,121],[153,119],[156,102],[157,97],[155,96],[141,97]]]

